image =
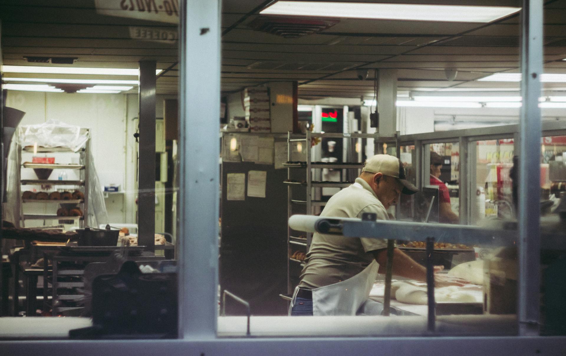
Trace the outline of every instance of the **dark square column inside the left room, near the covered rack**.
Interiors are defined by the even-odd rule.
[[[155,60],[140,61],[138,244],[155,251]]]

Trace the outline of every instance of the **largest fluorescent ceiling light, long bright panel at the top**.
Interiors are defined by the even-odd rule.
[[[503,6],[277,1],[259,13],[261,15],[323,16],[327,18],[487,23],[520,10],[520,7]]]

